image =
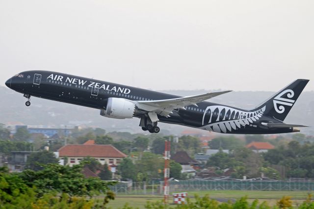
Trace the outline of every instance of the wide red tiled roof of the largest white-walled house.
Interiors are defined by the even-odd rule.
[[[58,151],[60,157],[127,157],[112,145],[68,144]]]

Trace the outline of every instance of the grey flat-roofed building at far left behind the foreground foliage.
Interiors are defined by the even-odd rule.
[[[8,158],[7,165],[10,172],[22,172],[25,168],[27,157],[37,152],[29,151],[12,151],[11,157]]]

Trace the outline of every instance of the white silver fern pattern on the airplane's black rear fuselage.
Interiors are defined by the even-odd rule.
[[[222,105],[208,106],[203,115],[202,128],[224,133],[241,129],[241,126],[245,127],[245,125],[259,120],[265,109],[266,106],[263,106],[261,109],[251,112]]]

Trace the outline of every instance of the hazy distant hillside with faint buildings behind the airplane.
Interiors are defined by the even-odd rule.
[[[187,96],[197,95],[206,92],[206,90],[193,90],[193,91],[162,91],[165,93]],[[210,102],[227,104],[231,106],[251,109],[258,104],[261,104],[274,92],[231,92],[210,100]],[[31,98],[31,105],[25,106],[26,98],[22,94],[14,92],[6,87],[0,87],[0,96],[2,103],[0,104],[0,123],[7,124],[9,122],[21,122],[26,125],[44,125],[60,127],[64,125],[79,125],[85,121],[87,126],[101,127],[107,131],[129,131],[129,132],[142,132],[138,127],[139,119],[110,119],[100,116],[99,110],[59,103],[39,98]],[[303,124],[313,126],[314,118],[314,91],[303,92],[292,110],[288,114],[286,123]],[[72,122],[71,122],[72,121]],[[75,122],[78,121],[78,122]],[[71,123],[70,123],[71,122]],[[160,128],[167,133],[181,132],[186,129],[182,126],[168,125],[159,123]],[[303,133],[313,134],[314,128],[304,128]]]

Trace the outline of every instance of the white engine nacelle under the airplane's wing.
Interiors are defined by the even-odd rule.
[[[108,118],[126,119],[132,118],[135,111],[135,104],[121,98],[108,98],[106,110],[100,114]]]

